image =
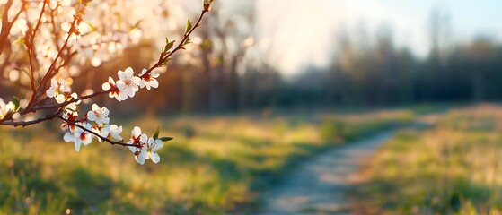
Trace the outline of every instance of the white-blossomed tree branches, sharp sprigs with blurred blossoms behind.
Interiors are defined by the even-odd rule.
[[[119,9],[128,1],[0,0],[0,72],[7,71],[11,81],[27,91],[24,99],[13,97],[7,102],[0,98],[0,125],[25,127],[57,119],[62,122],[64,141],[73,142],[76,151],[92,140],[109,142],[128,147],[139,164],[145,159],[158,163],[156,151],[171,137],[159,136],[159,128],[147,136],[135,126],[123,138],[122,126],[111,123],[107,107],[92,104],[86,111],[81,105],[102,95],[123,101],[138,90],[157,88],[160,74],[155,69],[168,64],[172,55],[190,43],[190,35],[212,2],[203,1],[197,22],[187,22],[181,41],[166,39],[152,66],[139,72],[130,67],[119,70],[117,76],[103,80],[101,90],[78,94],[71,86],[79,66],[99,66],[141,37],[139,22],[128,20]]]

